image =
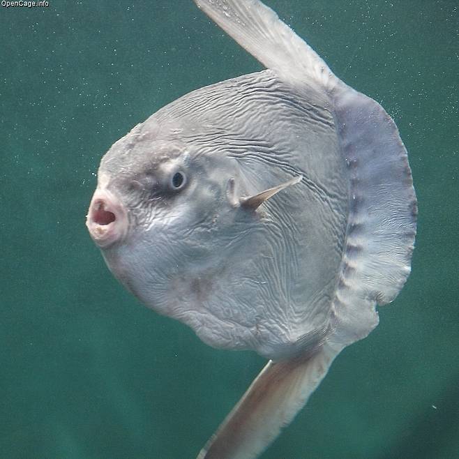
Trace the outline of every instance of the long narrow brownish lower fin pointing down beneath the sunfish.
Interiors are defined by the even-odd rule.
[[[197,459],[250,459],[262,453],[306,404],[339,351],[269,361]]]

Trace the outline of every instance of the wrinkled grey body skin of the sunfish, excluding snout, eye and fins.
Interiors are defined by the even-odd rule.
[[[313,87],[265,70],[193,91],[116,142],[98,174],[128,209],[128,233],[103,255],[146,306],[209,345],[269,359],[322,342],[349,180],[329,103]],[[299,175],[259,209],[239,205]]]

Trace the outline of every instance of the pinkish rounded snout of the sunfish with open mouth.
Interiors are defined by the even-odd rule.
[[[121,241],[128,231],[125,206],[108,190],[96,190],[89,204],[86,227],[100,248]]]

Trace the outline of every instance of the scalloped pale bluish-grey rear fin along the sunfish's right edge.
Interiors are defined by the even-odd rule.
[[[417,203],[396,123],[343,82],[330,92],[350,177],[349,216],[329,342],[349,345],[377,325],[411,271]]]

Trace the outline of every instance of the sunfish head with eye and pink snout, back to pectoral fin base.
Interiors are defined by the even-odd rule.
[[[103,157],[86,218],[114,276],[173,317],[200,307],[203,280],[255,221],[236,199],[244,191],[236,160],[191,137],[181,141],[154,119],[133,128]]]

